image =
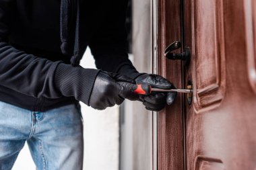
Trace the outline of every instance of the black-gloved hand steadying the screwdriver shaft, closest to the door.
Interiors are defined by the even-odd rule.
[[[144,83],[151,85],[153,88],[175,89],[170,81],[164,79],[164,77],[160,75],[141,74],[135,78],[135,81],[137,84]],[[177,92],[160,93],[154,91],[151,95],[139,95],[139,98],[143,102],[143,105],[146,106],[146,109],[152,111],[162,110],[166,103],[170,105],[176,97]]]

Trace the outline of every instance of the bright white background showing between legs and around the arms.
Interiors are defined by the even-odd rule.
[[[81,65],[85,68],[95,68],[90,49],[86,50]],[[84,118],[84,169],[118,169],[119,107],[98,111],[83,103],[81,105]],[[36,169],[27,145],[24,146],[13,166],[13,170],[20,169]]]

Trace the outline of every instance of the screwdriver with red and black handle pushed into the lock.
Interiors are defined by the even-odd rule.
[[[150,95],[152,91],[174,91],[178,93],[192,93],[192,88],[191,86],[188,86],[188,89],[156,89],[152,88],[151,85],[138,84],[137,89],[134,90],[134,92],[139,95]]]

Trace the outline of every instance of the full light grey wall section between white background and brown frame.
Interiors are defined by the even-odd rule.
[[[152,72],[150,0],[133,1],[133,62]],[[126,101],[121,113],[121,170],[152,169],[152,112],[139,101]]]

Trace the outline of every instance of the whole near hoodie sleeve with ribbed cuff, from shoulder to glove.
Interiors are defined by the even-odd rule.
[[[74,96],[88,104],[97,70],[72,67],[8,44],[15,0],[0,0],[0,85],[32,97]]]

